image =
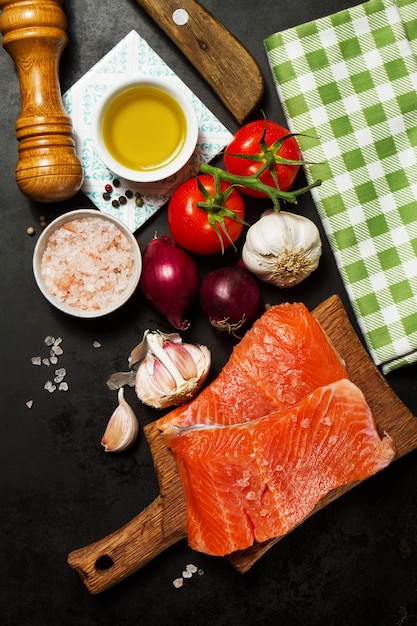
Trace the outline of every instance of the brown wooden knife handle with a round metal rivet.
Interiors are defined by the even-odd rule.
[[[259,106],[264,90],[262,72],[247,49],[195,0],[137,3],[180,48],[237,121],[243,123]],[[176,16],[184,16],[185,23]]]

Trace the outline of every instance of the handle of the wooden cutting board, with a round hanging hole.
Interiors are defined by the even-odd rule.
[[[182,494],[181,494],[182,498]],[[168,504],[168,506],[167,506]],[[119,530],[68,555],[90,593],[105,591],[186,536],[185,511],[159,496]]]

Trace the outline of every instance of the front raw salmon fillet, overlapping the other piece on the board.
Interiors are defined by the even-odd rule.
[[[191,548],[223,556],[280,537],[331,490],[363,480],[395,454],[350,381],[232,426],[167,437],[184,488]]]

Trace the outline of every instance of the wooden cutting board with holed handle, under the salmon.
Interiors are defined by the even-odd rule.
[[[394,440],[395,458],[417,448],[417,418],[370,360],[340,298],[328,298],[314,309],[313,315],[345,360],[351,380],[362,389],[379,432],[387,431]],[[160,495],[119,530],[69,554],[69,565],[78,571],[90,593],[100,593],[115,585],[187,535],[185,501],[174,458],[155,423],[148,424],[144,431],[152,452]],[[332,491],[311,515],[355,484]],[[256,544],[225,558],[237,571],[244,573],[280,539],[282,537]]]

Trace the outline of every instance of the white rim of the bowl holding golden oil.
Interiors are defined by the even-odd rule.
[[[132,89],[138,85],[150,85],[161,89],[162,91],[166,91],[178,102],[187,121],[186,139],[184,146],[177,157],[164,167],[149,171],[132,170],[121,165],[107,151],[101,133],[101,121],[110,100],[115,98],[119,93]],[[176,174],[188,163],[197,145],[199,126],[197,114],[190,97],[173,77],[158,77],[138,74],[136,76],[120,80],[103,94],[99,102],[96,104],[96,108],[92,116],[91,134],[94,147],[100,159],[114,174],[124,178],[125,180],[136,183],[152,183],[165,180],[169,176]]]

